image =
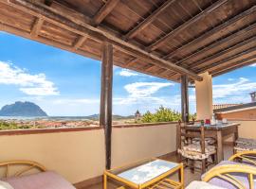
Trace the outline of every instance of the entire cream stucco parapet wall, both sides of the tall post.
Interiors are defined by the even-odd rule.
[[[113,129],[113,165],[175,150],[175,124]],[[32,160],[72,183],[104,170],[103,129],[0,136],[0,161]]]

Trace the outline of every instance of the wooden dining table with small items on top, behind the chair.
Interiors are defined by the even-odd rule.
[[[189,126],[189,125],[188,125]],[[199,124],[190,125],[190,127],[197,127],[199,129]],[[227,123],[227,124],[217,124],[214,126],[205,125],[205,137],[211,137],[217,141],[217,162],[220,163],[224,160],[224,150],[223,144],[224,140],[233,136],[233,142],[238,139],[238,127],[239,123]]]

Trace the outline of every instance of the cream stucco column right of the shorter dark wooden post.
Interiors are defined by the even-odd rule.
[[[197,120],[210,119],[212,111],[212,79],[206,72],[200,75],[203,81],[195,81]]]

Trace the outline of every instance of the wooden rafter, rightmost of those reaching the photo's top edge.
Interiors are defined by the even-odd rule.
[[[204,18],[205,16],[207,16],[208,14],[210,14],[212,11],[214,11],[215,9],[219,8],[220,6],[222,6],[223,4],[227,3],[228,0],[218,0],[217,2],[215,2],[214,4],[212,4],[209,8],[204,9],[203,11],[201,11],[199,14],[197,14],[196,16],[192,17],[192,19],[190,19],[189,21],[185,22],[184,24],[182,24],[181,26],[176,27],[173,31],[169,32],[168,34],[166,34],[165,36],[163,36],[162,38],[160,38],[159,40],[157,40],[155,43],[152,43],[150,46],[148,46],[148,49],[153,51],[156,48],[158,48],[160,45],[162,45],[163,43],[166,43],[168,40],[170,40],[171,37],[175,37],[177,34],[179,34],[181,31],[183,31],[184,29],[188,28],[189,26],[192,26],[193,24],[195,24],[198,20]]]

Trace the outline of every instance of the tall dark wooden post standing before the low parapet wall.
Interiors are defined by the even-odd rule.
[[[106,169],[111,167],[113,45],[103,43],[101,64],[100,125],[105,132]]]

